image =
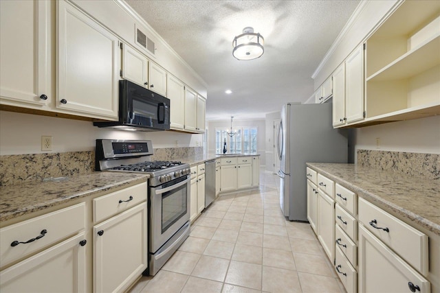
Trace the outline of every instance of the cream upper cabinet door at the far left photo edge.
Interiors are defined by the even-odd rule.
[[[49,23],[50,1],[0,1],[1,104],[49,104]]]

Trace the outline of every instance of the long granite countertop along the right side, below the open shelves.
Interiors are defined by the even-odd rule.
[[[440,182],[354,164],[307,163],[381,209],[440,235]]]

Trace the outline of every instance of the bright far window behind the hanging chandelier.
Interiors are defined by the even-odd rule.
[[[223,154],[226,142],[228,154],[256,154],[258,130],[256,127],[235,127],[236,134],[228,135],[228,130],[215,128],[215,152]]]

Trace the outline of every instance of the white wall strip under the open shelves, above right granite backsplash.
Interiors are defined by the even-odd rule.
[[[376,138],[380,139],[379,148]],[[358,128],[358,149],[440,154],[440,116]]]

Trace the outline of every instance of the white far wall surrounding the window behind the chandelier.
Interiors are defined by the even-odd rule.
[[[264,119],[252,119],[252,120],[239,120],[234,119],[232,122],[232,128],[236,127],[254,127],[256,126],[258,131],[258,150],[257,153],[260,154],[260,165],[265,165],[266,156],[265,156],[265,141],[266,141],[266,125]],[[215,153],[215,128],[224,128],[230,129],[231,120],[230,118],[227,120],[221,121],[208,121],[208,152]]]

